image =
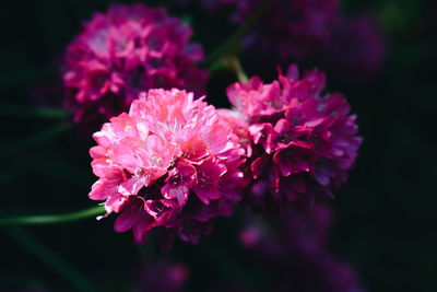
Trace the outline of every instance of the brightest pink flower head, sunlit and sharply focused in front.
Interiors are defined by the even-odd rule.
[[[90,198],[120,213],[115,230],[142,243],[155,227],[198,242],[240,198],[244,151],[213,106],[179,90],[150,90],[94,133],[98,180]]]

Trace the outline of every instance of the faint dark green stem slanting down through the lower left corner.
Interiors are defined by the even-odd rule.
[[[49,248],[44,246],[25,230],[19,227],[8,229],[7,233],[10,237],[17,242],[24,250],[34,255],[54,271],[59,273],[59,276],[69,281],[71,285],[74,287],[74,290],[93,291],[93,284],[82,273],[71,267],[62,258],[54,254]]]

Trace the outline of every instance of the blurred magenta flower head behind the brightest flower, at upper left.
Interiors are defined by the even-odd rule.
[[[111,5],[97,13],[68,47],[63,81],[75,121],[101,121],[127,110],[141,91],[187,89],[203,93],[208,73],[191,28],[165,10]]]

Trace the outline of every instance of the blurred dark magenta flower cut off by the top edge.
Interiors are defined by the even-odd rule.
[[[247,52],[263,63],[302,61],[319,51],[331,36],[339,14],[338,0],[272,0],[244,39]],[[232,11],[243,22],[261,0],[202,0],[211,12]]]

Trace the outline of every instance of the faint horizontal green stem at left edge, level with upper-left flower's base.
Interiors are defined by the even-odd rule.
[[[61,119],[69,115],[62,108],[28,108],[14,104],[0,105],[0,116],[3,117]]]

